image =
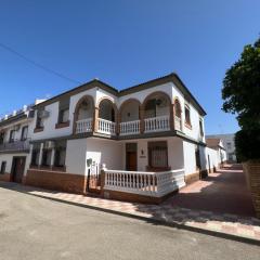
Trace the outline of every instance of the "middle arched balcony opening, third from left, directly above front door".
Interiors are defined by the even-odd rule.
[[[119,109],[120,135],[140,133],[140,102],[135,99],[125,101]]]

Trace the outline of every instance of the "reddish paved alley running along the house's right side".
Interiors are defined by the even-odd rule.
[[[239,165],[226,166],[208,178],[183,187],[166,204],[217,213],[255,217],[250,193]]]

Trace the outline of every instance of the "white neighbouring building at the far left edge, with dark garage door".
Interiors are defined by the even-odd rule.
[[[29,167],[34,105],[14,110],[0,120],[0,180],[22,182],[24,169]]]

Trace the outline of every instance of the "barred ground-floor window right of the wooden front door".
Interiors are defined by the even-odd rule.
[[[152,168],[168,168],[166,141],[148,143],[148,166]]]

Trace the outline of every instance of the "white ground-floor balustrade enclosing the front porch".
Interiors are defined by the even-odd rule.
[[[183,169],[165,172],[103,170],[104,190],[161,197],[185,185]]]

